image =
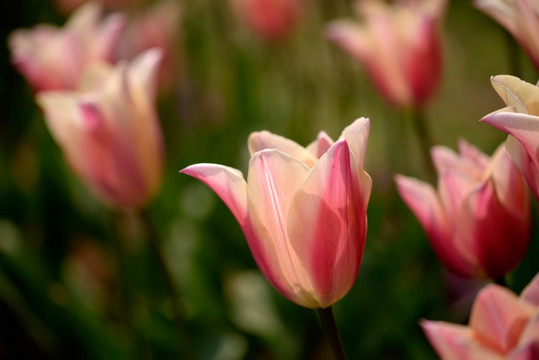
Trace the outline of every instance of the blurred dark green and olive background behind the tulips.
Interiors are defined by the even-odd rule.
[[[177,81],[158,104],[166,170],[146,212],[178,292],[178,327],[145,224],[103,206],[72,174],[10,63],[12,30],[66,16],[47,0],[0,4],[0,359],[330,358],[316,313],[269,285],[226,206],[178,171],[212,162],[246,174],[250,132],[307,145],[320,130],[337,138],[360,116],[371,119],[369,230],[336,321],[350,359],[434,359],[418,322],[462,322],[470,284],[443,271],[396,193],[396,172],[426,178],[412,124],[324,36],[327,21],[352,16],[352,3],[308,1],[295,32],[275,43],[250,32],[227,1],[181,6]],[[433,142],[456,148],[465,138],[491,154],[506,135],[478,120],[503,105],[489,77],[513,71],[515,44],[469,1],[448,4],[443,28],[442,84],[426,108]],[[509,276],[517,292],[539,271],[538,210],[534,201],[530,251]]]

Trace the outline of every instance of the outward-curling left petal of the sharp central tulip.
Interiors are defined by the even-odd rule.
[[[195,164],[180,170],[208,185],[228,206],[244,228],[248,221],[247,183],[241,171],[217,164]]]

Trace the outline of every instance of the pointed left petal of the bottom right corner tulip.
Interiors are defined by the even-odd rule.
[[[503,360],[501,354],[478,344],[466,326],[423,320],[421,327],[441,360]]]

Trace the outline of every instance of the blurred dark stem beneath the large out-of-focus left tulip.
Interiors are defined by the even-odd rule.
[[[161,275],[163,276],[163,280],[165,281],[165,287],[167,289],[168,296],[170,297],[172,316],[178,335],[178,341],[179,344],[181,344],[182,346],[183,355],[185,355],[188,359],[196,359],[197,357],[195,356],[194,351],[191,349],[191,342],[189,341],[187,335],[188,331],[184,321],[185,314],[179,304],[179,292],[174,284],[172,273],[167,266],[163,249],[161,247],[159,232],[157,231],[147,211],[141,211],[140,217],[146,226],[146,230],[148,231],[148,240],[150,242],[150,247],[152,248],[152,251],[157,260],[159,270],[161,271]]]

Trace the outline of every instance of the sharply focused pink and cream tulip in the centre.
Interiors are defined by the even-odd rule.
[[[352,287],[367,232],[371,178],[363,170],[369,120],[337,142],[324,132],[304,148],[267,131],[249,137],[240,171],[196,164],[181,172],[213,189],[240,224],[260,270],[287,299],[326,308]]]

